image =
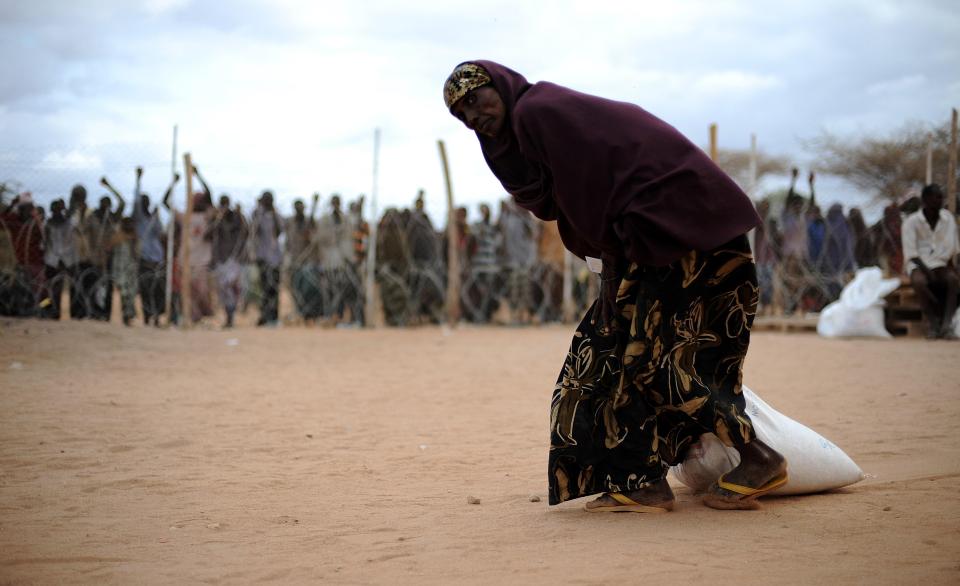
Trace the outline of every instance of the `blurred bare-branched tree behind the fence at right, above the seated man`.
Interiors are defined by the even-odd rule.
[[[908,122],[885,136],[838,137],[827,131],[806,141],[819,155],[817,168],[869,191],[879,200],[901,200],[926,179],[927,146],[933,145],[933,182],[946,187],[950,125]],[[957,177],[953,178],[957,181]]]

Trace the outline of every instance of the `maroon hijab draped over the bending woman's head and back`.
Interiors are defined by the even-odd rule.
[[[507,111],[500,136],[477,134],[487,164],[520,206],[557,220],[575,254],[660,266],[760,224],[733,180],[639,106],[471,63],[487,70]]]

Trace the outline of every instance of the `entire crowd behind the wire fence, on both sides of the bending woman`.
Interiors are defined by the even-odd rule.
[[[232,327],[238,311],[258,306],[261,326],[367,321],[364,279],[371,231],[362,195],[344,205],[333,194],[321,210],[315,194],[309,202],[294,200],[292,213],[282,215],[273,193],[264,191],[252,213],[245,214],[226,194],[214,204],[205,178],[193,171],[200,189],[187,225],[188,319]],[[757,204],[763,223],[753,233],[753,251],[761,313],[819,311],[839,296],[859,267],[880,266],[888,275],[910,276],[905,270],[913,263],[911,257],[905,260],[902,231],[905,218],[920,209],[919,198],[891,203],[868,226],[858,208],[845,213],[839,203],[824,215],[815,196],[815,176],[809,175],[809,193],[802,194],[798,174],[794,169],[784,201],[768,198]],[[108,321],[116,290],[123,323],[130,325],[138,316],[155,326],[178,323],[181,230],[187,220],[170,199],[179,178],[160,202],[173,220],[171,227],[142,192],[142,175],[138,168],[130,206],[106,178],[101,180],[106,193],[93,210],[82,185],[71,190],[67,201],[52,201],[49,212],[29,193],[3,204],[0,315],[59,319],[66,314]],[[564,319],[567,259],[556,223],[536,219],[509,198],[500,202],[496,218],[487,204],[477,211],[473,221],[467,208],[455,213],[462,319],[508,324]],[[383,322],[444,321],[450,240],[426,213],[424,193],[417,194],[411,208],[386,209],[376,233]],[[573,315],[567,317],[572,318],[592,302],[598,285],[583,261],[574,256],[569,261]],[[61,307],[64,297],[66,308]],[[286,307],[281,308],[281,297],[289,299]]]

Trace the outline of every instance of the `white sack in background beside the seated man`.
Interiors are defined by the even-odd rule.
[[[900,279],[884,279],[879,267],[858,270],[840,299],[823,308],[817,333],[825,338],[890,338],[884,326],[883,298],[899,286]]]

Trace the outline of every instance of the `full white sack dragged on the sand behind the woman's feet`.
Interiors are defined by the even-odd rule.
[[[863,480],[863,470],[833,442],[767,405],[746,386],[743,396],[757,437],[787,459],[790,479],[772,494],[822,492]],[[680,482],[702,492],[738,464],[737,450],[705,433],[671,470]]]

